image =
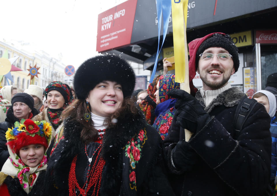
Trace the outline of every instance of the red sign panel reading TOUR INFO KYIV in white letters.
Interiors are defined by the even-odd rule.
[[[137,0],[129,0],[98,15],[98,52],[130,44],[136,3]]]

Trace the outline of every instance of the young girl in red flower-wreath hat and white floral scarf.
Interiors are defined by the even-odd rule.
[[[30,119],[14,126],[6,132],[10,157],[0,172],[1,196],[43,195],[52,127],[45,120]]]

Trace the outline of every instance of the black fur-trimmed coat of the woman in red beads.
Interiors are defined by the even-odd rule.
[[[115,127],[106,129],[103,140],[100,155],[106,164],[102,171],[99,195],[174,195],[166,176],[162,140],[157,131],[147,124],[139,110],[136,114],[122,114],[117,120]],[[84,144],[80,141],[81,130],[82,125],[76,121],[64,121],[64,139],[59,142],[48,162],[45,195],[68,195],[68,174],[75,155],[76,168],[79,168],[75,170],[76,178],[78,180],[78,176],[83,176],[83,173],[78,174],[83,165],[78,164],[83,162],[78,159],[86,160],[87,165],[89,162],[84,152]],[[141,137],[143,130],[145,136]],[[138,141],[138,136],[142,139],[141,158],[133,170],[127,156],[127,145],[130,144],[128,142],[131,138]],[[98,144],[92,142],[88,146],[95,149],[96,145]],[[131,171],[135,171],[136,186],[134,181],[131,181]]]

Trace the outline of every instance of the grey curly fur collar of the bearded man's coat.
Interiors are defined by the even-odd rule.
[[[239,100],[246,96],[238,87],[228,88],[226,91],[220,93],[216,99],[213,99],[211,103],[206,107],[203,97],[200,91],[196,92],[195,98],[200,102],[204,110],[209,114],[215,106],[224,105],[225,107],[233,107],[237,105]]]

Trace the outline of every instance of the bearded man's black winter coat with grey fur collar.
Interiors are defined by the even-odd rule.
[[[171,184],[176,195],[263,195],[270,177],[270,117],[258,103],[242,130],[235,133],[235,110],[243,96],[239,88],[229,88],[205,107],[200,91],[196,93],[196,99],[212,119],[190,138],[199,163],[185,173],[172,165],[171,149],[183,132],[171,125],[164,142],[169,167],[175,173]]]

